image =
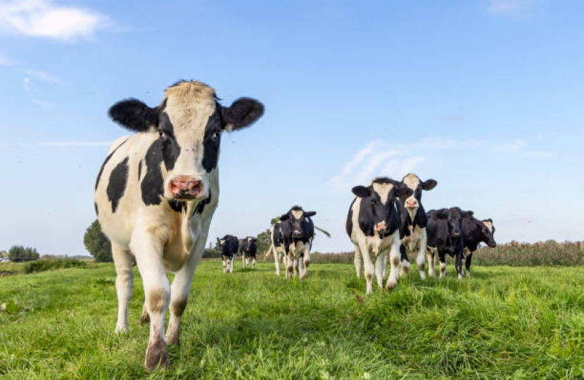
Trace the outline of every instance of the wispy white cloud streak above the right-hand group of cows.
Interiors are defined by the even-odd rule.
[[[348,163],[333,177],[329,185],[334,189],[345,190],[355,184],[367,184],[373,177],[387,176],[400,179],[409,172],[413,172],[426,156],[420,153],[432,154],[440,151],[460,152],[494,152],[519,154],[533,158],[547,158],[553,155],[551,151],[534,151],[526,148],[526,141],[515,139],[512,141],[486,141],[479,139],[443,139],[427,138],[405,144],[393,144],[391,141],[369,141],[360,151],[353,155]]]

